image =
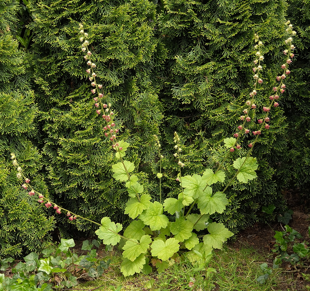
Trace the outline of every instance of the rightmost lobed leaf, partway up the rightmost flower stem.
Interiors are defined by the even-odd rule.
[[[244,165],[241,167],[243,162],[246,160]],[[248,183],[249,180],[253,180],[257,177],[255,170],[258,167],[256,158],[246,157],[237,158],[236,161],[233,162],[233,167],[239,170],[237,174],[237,179],[239,182]]]

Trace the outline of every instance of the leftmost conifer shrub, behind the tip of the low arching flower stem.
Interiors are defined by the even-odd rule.
[[[0,3],[0,15],[5,15],[0,20],[0,258],[47,247],[48,232],[54,227],[53,218],[47,218],[42,205],[21,188],[23,181],[17,179],[10,159],[14,152],[33,185],[48,195],[39,173],[42,156],[33,144],[38,107],[29,90],[31,57],[18,50],[9,31],[15,25],[17,9],[15,2]]]

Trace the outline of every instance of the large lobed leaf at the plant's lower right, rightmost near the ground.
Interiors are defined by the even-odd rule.
[[[233,236],[233,233],[229,231],[223,223],[210,223],[208,226],[207,234],[203,237],[203,242],[205,245],[212,246],[215,249],[221,249],[223,242],[228,239],[228,237]]]

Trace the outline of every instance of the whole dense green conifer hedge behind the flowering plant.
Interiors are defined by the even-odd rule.
[[[106,102],[117,112],[120,138],[131,144],[128,157],[139,166],[144,186],[158,200],[158,180],[152,175],[158,171],[153,135],[159,136],[164,155],[163,196],[177,193],[174,131],[184,143],[183,175],[202,174],[206,167],[216,166],[224,155],[223,139],[236,132],[253,83],[254,33],[265,44],[266,65],[256,100],[258,109],[253,110],[248,127],[251,131],[257,130],[255,119],[262,114],[259,108],[276,83],[274,77],[283,60],[284,22],[290,19],[298,33],[296,61],[281,106],[272,108],[271,128],[253,152],[259,161],[258,179],[232,185],[226,191],[230,203],[217,219],[236,232],[255,221],[271,219],[261,214],[262,206],[284,207],[284,187],[309,189],[306,2],[33,0],[24,12],[28,22],[22,23],[18,19],[23,13],[20,5],[1,0],[0,11],[5,17],[0,21],[4,185],[0,221],[2,228],[8,229],[0,236],[1,248],[10,254],[11,242],[24,240],[23,231],[30,227],[21,223],[24,217],[29,218],[32,229],[40,230],[31,242],[30,236],[24,240],[20,245],[24,249],[48,242],[54,220],[64,236],[75,229],[66,217],[54,217],[53,211],[44,213],[40,205],[31,202],[15,178],[9,159],[12,151],[35,189],[48,193],[60,206],[95,221],[103,216],[119,222],[129,220],[123,214],[127,196],[121,184],[113,181],[111,165],[116,161],[104,136],[103,119],[95,112],[85,73],[80,22],[89,33]],[[15,40],[22,37],[20,26],[32,33],[29,47],[23,48]],[[244,150],[234,152],[232,160],[246,151],[250,141],[250,137],[243,141]],[[233,171],[228,164],[226,169]],[[14,205],[23,201],[14,218],[18,231],[6,219],[15,207],[12,201]],[[82,220],[76,226],[81,231],[94,230]]]

